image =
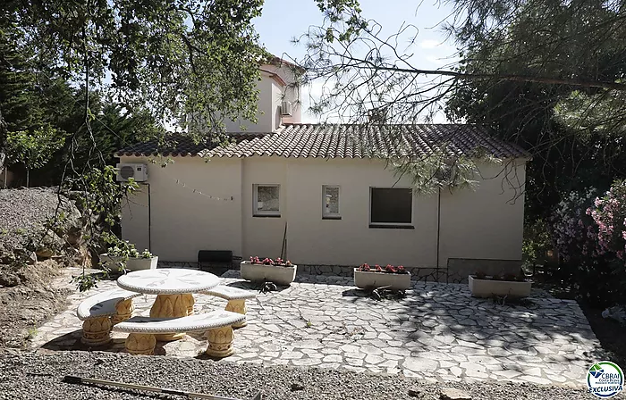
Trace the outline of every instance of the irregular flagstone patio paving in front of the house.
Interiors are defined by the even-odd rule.
[[[227,276],[237,276],[229,271]],[[241,279],[224,284],[251,288]],[[38,351],[86,349],[80,344],[78,304],[97,291],[70,297],[65,312],[38,328]],[[148,315],[155,296],[135,298]],[[222,308],[225,301],[195,296],[196,312]],[[106,351],[123,351],[126,334],[114,333]],[[248,302],[248,326],[235,331],[236,353],[224,360],[358,372],[402,373],[429,381],[511,380],[580,387],[601,347],[578,304],[543,291],[523,304],[496,304],[469,295],[467,285],[414,283],[402,300],[376,301],[353,287],[352,279],[300,276],[283,290],[258,293]],[[191,333],[157,343],[156,354],[202,357],[207,342]]]

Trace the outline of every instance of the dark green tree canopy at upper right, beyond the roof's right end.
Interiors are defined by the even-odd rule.
[[[621,79],[626,67],[618,55],[624,28],[616,10],[590,0],[576,7],[506,0],[455,4],[469,12],[461,25],[450,27],[464,46],[457,71],[485,78],[455,82],[446,113],[491,126],[532,154],[528,221],[548,218],[572,190],[608,187],[623,176],[623,92],[588,86]],[[486,23],[489,18],[493,23]],[[506,78],[511,76],[547,81]],[[572,85],[549,83],[563,77]]]

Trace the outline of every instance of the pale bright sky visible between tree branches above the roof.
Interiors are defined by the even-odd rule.
[[[413,65],[435,70],[451,63],[453,43],[446,41],[444,32],[438,26],[452,11],[449,4],[440,4],[437,0],[422,0],[421,4],[419,1],[360,0],[360,8],[363,17],[373,19],[382,26],[383,37],[397,32],[402,23],[415,25],[419,29],[416,45],[410,49],[415,54],[411,58]],[[266,0],[263,14],[255,19],[254,24],[260,42],[269,52],[286,59],[291,57],[299,60],[306,54],[306,49],[301,45],[293,45],[292,38],[300,37],[311,25],[321,25],[323,18],[314,0]],[[304,89],[301,95],[303,122],[317,122],[307,109],[309,93],[315,97],[321,90],[321,83],[314,83]],[[445,121],[443,115],[438,119]]]

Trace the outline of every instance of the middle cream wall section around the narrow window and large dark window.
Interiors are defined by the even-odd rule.
[[[385,163],[360,159],[288,159],[288,255],[308,264],[435,262],[436,197],[413,197],[416,229],[370,229],[369,187],[396,182]],[[322,219],[322,185],[340,186],[342,219]],[[401,180],[396,187],[409,187]]]

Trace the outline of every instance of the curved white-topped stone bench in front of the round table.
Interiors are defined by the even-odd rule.
[[[155,335],[207,330],[207,355],[223,358],[234,353],[232,325],[244,318],[240,313],[223,310],[181,318],[133,317],[114,325],[113,330],[130,333],[125,343],[130,354],[147,355],[155,352]]]

